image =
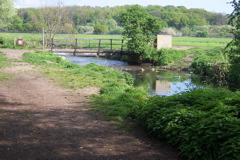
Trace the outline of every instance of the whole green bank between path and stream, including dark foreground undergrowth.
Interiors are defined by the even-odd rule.
[[[99,86],[92,97],[107,119],[129,118],[164,139],[188,159],[240,158],[240,95],[224,89],[194,90],[171,97],[150,96],[132,86],[129,74],[90,64],[66,62],[51,53],[26,53],[24,59],[69,88]]]

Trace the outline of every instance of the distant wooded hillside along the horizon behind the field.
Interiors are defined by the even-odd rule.
[[[65,7],[66,18],[63,32],[66,33],[97,33],[105,32],[109,34],[121,34],[120,15],[129,8],[129,5],[116,7],[90,7],[90,6],[67,6]],[[225,36],[229,28],[226,27],[228,16],[223,13],[209,12],[204,9],[184,6],[158,6],[151,5],[144,7],[151,15],[162,21],[165,28],[163,32],[171,32],[175,35],[207,37],[211,31],[215,31],[212,26],[224,26],[217,28]],[[14,17],[13,23],[7,29],[11,31],[41,31],[46,25],[41,16],[40,8],[18,9],[18,14]],[[197,29],[196,29],[197,26]],[[200,27],[199,27],[200,26]],[[211,26],[211,27],[209,27]],[[174,33],[172,33],[174,32]],[[216,35],[219,36],[219,35]]]

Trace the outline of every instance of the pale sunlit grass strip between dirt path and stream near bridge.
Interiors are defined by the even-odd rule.
[[[109,83],[133,84],[133,79],[128,73],[94,63],[78,66],[50,52],[25,53],[23,59],[41,66],[44,74],[62,86],[72,89],[87,86],[102,87]]]

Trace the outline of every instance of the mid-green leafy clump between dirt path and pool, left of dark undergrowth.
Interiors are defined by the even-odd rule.
[[[123,120],[133,115],[133,108],[145,104],[148,94],[143,88],[109,83],[94,95],[93,106],[109,120]]]

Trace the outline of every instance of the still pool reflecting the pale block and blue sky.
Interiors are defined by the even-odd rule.
[[[133,71],[132,71],[133,72]],[[152,95],[171,96],[192,89],[200,88],[191,80],[191,75],[185,72],[146,70],[135,75],[136,86],[147,86]]]

